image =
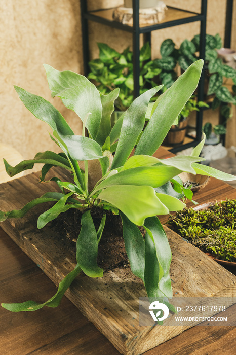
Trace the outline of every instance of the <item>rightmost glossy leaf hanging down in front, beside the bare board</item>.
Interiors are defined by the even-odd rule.
[[[145,252],[144,283],[147,294],[149,297],[164,295],[171,298],[170,264],[172,255],[166,233],[157,217],[146,218],[144,227],[146,229],[145,246],[147,249],[147,253]],[[148,255],[150,260],[148,260]],[[153,263],[153,266],[151,263]],[[153,270],[151,270],[152,268]],[[154,275],[152,275],[152,272]]]

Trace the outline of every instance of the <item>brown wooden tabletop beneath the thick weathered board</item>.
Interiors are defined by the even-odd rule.
[[[171,155],[162,148],[156,153],[161,158]],[[194,194],[194,200],[200,203],[226,197],[236,198],[236,189],[212,178],[205,188]],[[22,299],[22,295],[35,299],[38,293],[42,293],[45,299],[51,297],[56,290],[53,282],[2,229],[0,237],[1,302],[17,297]],[[0,308],[0,336],[1,355],[119,354],[66,297],[58,308],[47,307],[36,312],[12,313]],[[196,326],[146,354],[231,355],[235,348],[235,327]]]

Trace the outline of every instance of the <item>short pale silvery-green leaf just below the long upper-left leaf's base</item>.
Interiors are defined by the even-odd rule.
[[[82,135],[67,135],[63,137],[67,150],[74,160],[92,160],[102,158],[102,149],[99,144]]]

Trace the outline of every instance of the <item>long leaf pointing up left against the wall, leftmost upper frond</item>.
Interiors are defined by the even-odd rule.
[[[18,86],[14,86],[14,88],[26,109],[41,121],[46,122],[59,136],[74,134],[60,112],[50,102],[43,97],[30,94]]]

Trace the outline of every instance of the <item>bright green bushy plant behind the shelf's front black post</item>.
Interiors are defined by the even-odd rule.
[[[134,79],[133,79],[133,52],[129,47],[123,53],[115,51],[105,43],[98,43],[99,58],[91,60],[89,66],[91,73],[88,78],[97,82],[97,87],[102,94],[108,94],[115,88],[120,89],[119,96],[115,100],[115,107],[125,111],[133,102]],[[140,94],[155,87],[153,78],[161,69],[150,60],[151,50],[147,42],[140,50]]]

